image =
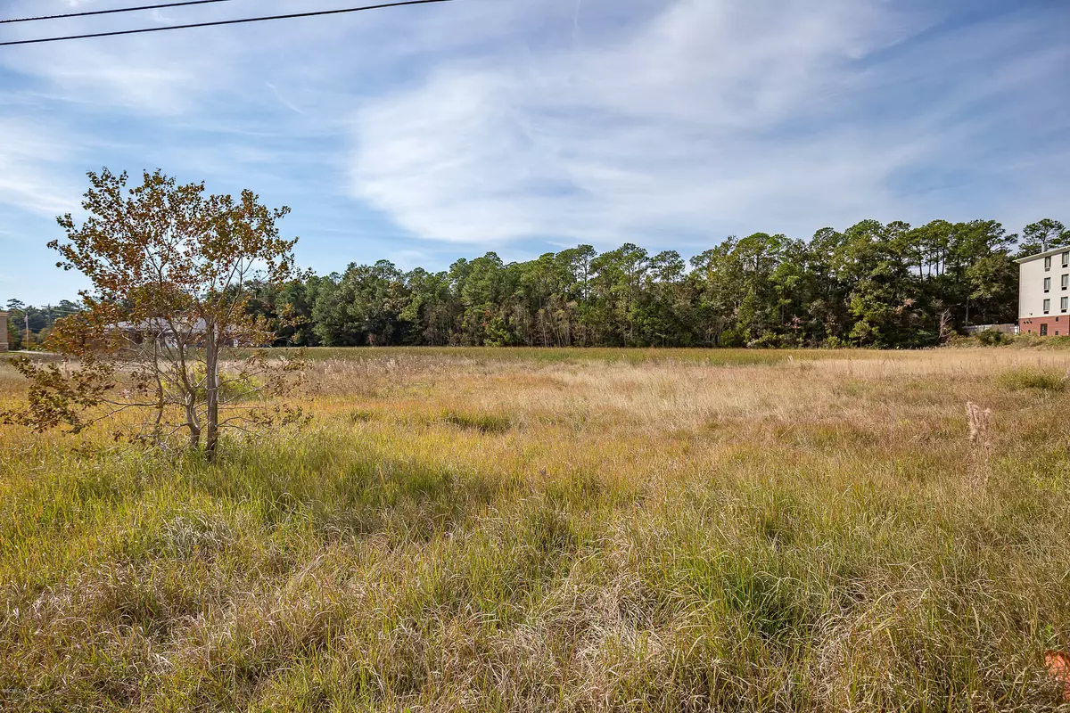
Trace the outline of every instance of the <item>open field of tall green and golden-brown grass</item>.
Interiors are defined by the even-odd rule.
[[[0,427],[0,709],[1064,700],[1070,353],[312,357],[215,466]]]

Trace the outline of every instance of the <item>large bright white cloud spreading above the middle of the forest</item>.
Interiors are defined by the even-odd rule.
[[[352,188],[421,236],[463,242],[849,211],[885,197],[916,141],[865,160],[865,133],[764,133],[828,114],[843,65],[896,38],[893,19],[853,2],[688,0],[608,45],[446,65],[356,113]]]

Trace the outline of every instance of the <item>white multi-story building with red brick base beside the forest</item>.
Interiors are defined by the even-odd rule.
[[[1023,335],[1070,335],[1070,246],[1018,261],[1018,327]]]

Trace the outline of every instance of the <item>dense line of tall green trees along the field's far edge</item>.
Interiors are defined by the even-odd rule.
[[[351,264],[260,290],[249,309],[292,322],[278,342],[291,345],[905,348],[967,325],[1015,322],[1014,259],[1063,245],[1070,230],[1051,219],[1021,236],[991,220],[865,220],[810,241],[733,236],[688,261],[629,243],[508,264],[488,252],[440,273]],[[17,345],[21,314],[34,315],[40,341],[49,319],[72,306],[14,307]]]

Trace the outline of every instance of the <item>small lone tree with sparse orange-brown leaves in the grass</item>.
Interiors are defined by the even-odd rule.
[[[67,239],[49,244],[63,255],[57,266],[92,282],[80,293],[86,309],[60,320],[49,337],[67,363],[16,360],[29,400],[5,420],[78,432],[113,419],[117,437],[163,446],[184,434],[211,459],[221,429],[301,419],[300,408],[265,402],[299,381],[300,357],[257,351],[223,363],[227,346],[273,340],[246,306],[254,278],[281,284],[294,277],[296,239],[276,228],[289,208],[268,208],[248,190],[238,200],[207,196],[203,183],[178,185],[158,170],[132,189],[126,173],[88,175],[89,217],[81,226],[60,217]],[[141,416],[125,416],[134,413]]]

